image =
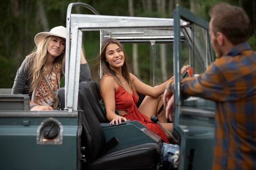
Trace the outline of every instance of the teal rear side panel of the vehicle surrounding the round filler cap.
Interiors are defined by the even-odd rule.
[[[0,115],[1,170],[77,169],[78,111],[72,115],[67,111],[5,111],[5,116],[1,111]],[[62,144],[37,143],[37,131],[49,117],[62,126]]]

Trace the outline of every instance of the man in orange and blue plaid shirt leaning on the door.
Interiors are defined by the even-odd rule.
[[[213,170],[256,170],[256,53],[246,42],[249,18],[243,9],[225,3],[209,14],[217,59],[200,76],[182,79],[181,91],[216,102]],[[173,92],[170,82],[164,92],[170,119]]]

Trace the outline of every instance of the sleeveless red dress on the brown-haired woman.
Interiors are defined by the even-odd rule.
[[[131,121],[139,121],[141,124],[161,137],[164,142],[169,143],[164,130],[139,111],[136,106],[138,100],[139,96],[136,93],[130,94],[118,84],[118,88],[115,91],[116,108],[117,110],[127,110],[127,114],[121,116],[125,117],[126,119],[130,119]]]

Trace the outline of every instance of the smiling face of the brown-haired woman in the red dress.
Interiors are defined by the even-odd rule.
[[[106,62],[108,62],[110,68],[114,71],[121,69],[124,64],[124,52],[115,43],[110,43],[106,47]]]

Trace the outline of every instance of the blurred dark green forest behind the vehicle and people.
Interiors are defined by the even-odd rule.
[[[256,49],[256,1],[255,0],[1,0],[0,2],[0,88],[12,88],[16,71],[25,56],[35,47],[34,36],[55,26],[66,26],[67,6],[71,2],[91,5],[101,15],[172,18],[176,4],[189,9],[209,21],[208,11],[218,2],[243,7],[251,21],[249,44]],[[88,9],[75,7],[72,13],[93,14]],[[85,35],[85,57],[92,76],[98,76],[95,68],[99,54],[99,32]],[[131,47],[129,47],[131,48]],[[144,51],[138,51],[143,57]]]

